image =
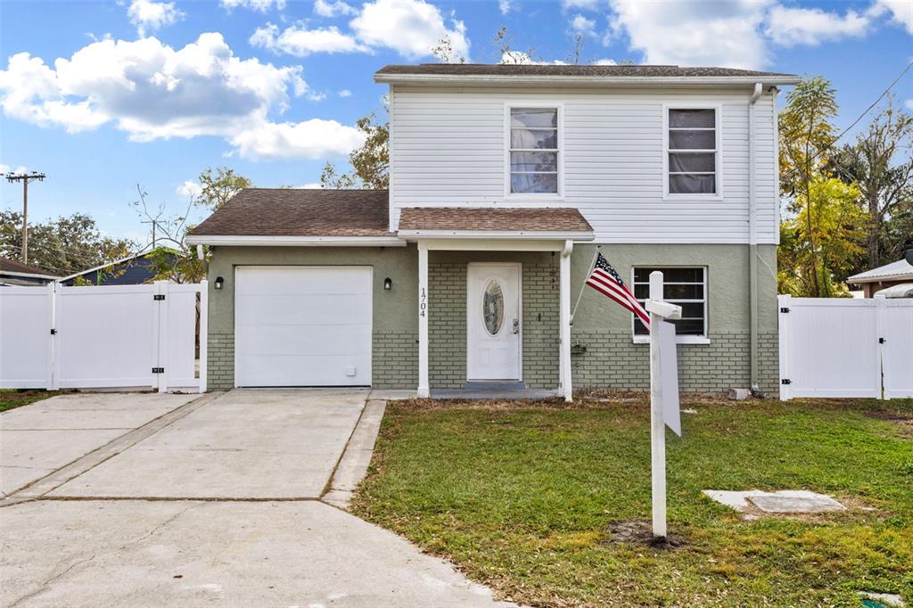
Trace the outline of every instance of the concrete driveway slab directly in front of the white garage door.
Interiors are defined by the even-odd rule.
[[[367,390],[236,390],[52,497],[319,498]]]

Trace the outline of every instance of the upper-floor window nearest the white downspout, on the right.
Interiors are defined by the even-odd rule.
[[[718,111],[667,111],[666,194],[719,194]]]

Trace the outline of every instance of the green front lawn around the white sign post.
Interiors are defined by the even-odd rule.
[[[675,550],[610,531],[650,516],[640,399],[390,402],[353,508],[534,606],[913,602],[913,401],[683,407],[698,414],[668,435]],[[746,520],[703,488],[805,488],[853,508]]]

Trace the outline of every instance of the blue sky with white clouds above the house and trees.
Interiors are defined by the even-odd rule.
[[[567,60],[580,33],[585,61],[822,74],[840,126],[913,58],[913,0],[3,1],[0,169],[47,173],[32,218],[79,211],[144,242],[136,183],[174,213],[207,166],[315,183],[359,141],[354,122],[383,115],[377,68],[433,61],[445,36],[496,62],[499,26],[532,60]],[[913,110],[913,73],[895,92]],[[21,207],[20,187],[4,181],[0,196]]]

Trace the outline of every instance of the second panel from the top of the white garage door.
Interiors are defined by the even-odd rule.
[[[243,296],[238,307],[240,325],[359,325],[371,323],[371,309],[360,298],[346,296]],[[269,310],[264,319],[262,310]]]

